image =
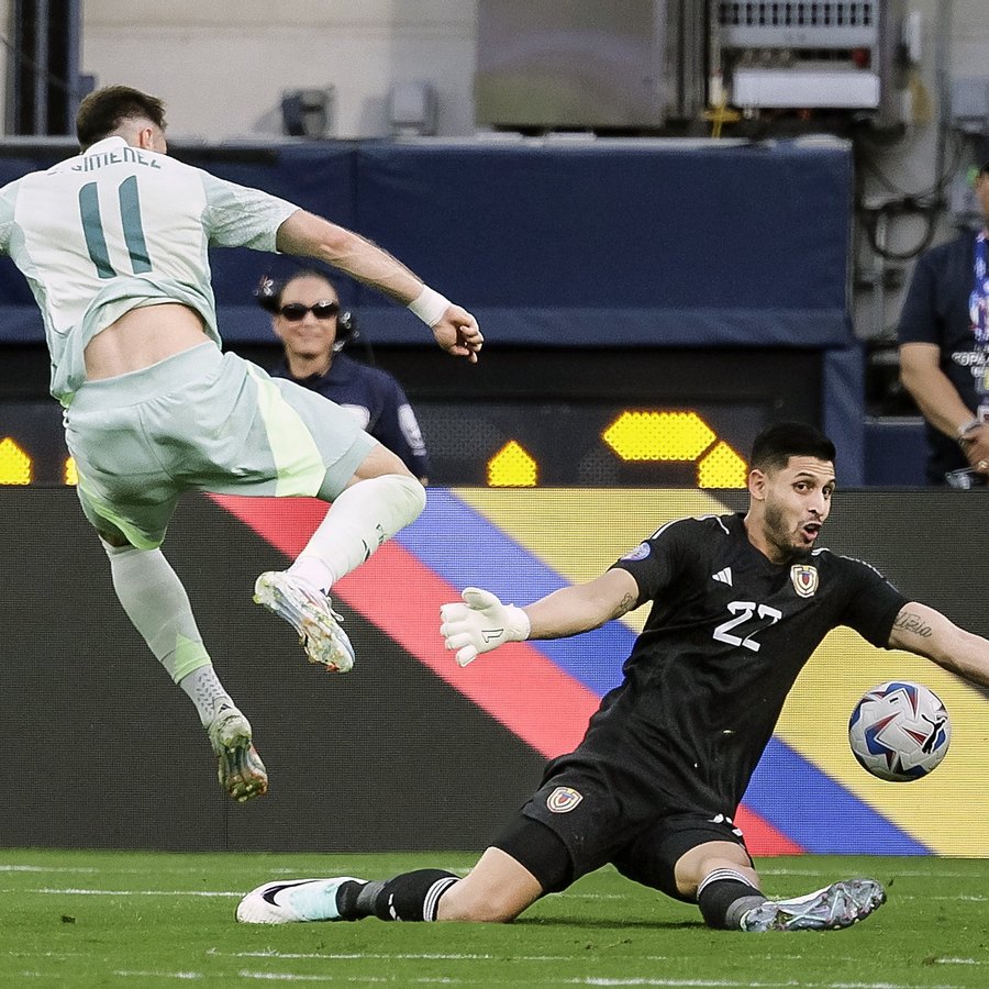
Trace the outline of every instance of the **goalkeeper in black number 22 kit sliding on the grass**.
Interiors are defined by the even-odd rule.
[[[576,635],[646,602],[652,611],[584,741],[548,764],[468,876],[269,882],[237,919],[504,922],[607,863],[696,902],[712,927],[832,930],[867,916],[886,899],[871,879],[767,899],[732,816],[829,631],[847,625],[980,685],[989,642],[909,602],[868,564],[815,548],[834,485],[832,442],[780,423],[756,437],[744,515],[670,522],[596,580],[524,609],[477,588],[443,605],[441,633],[460,666],[505,642]]]

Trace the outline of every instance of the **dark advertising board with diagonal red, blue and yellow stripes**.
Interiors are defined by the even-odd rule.
[[[845,491],[826,545],[989,634],[984,496]],[[525,643],[458,669],[437,609],[468,582],[524,603],[598,575],[663,522],[741,507],[740,492],[430,490],[423,516],[337,586],[358,663],[330,677],[249,602],[322,514],[309,500],[190,497],[167,553],[271,775],[244,807],[220,792],[188,700],[116,604],[69,489],[0,489],[0,845],[88,848],[479,849],[576,744],[616,682],[643,614]],[[923,520],[919,531],[918,520]],[[884,784],[846,745],[858,696],[911,678],[945,700],[952,751],[931,777]],[[981,856],[973,821],[986,697],[933,664],[838,631],[788,702],[740,813],[753,851]]]

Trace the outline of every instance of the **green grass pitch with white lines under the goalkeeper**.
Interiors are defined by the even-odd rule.
[[[889,902],[846,931],[708,931],[696,908],[611,869],[512,925],[246,926],[238,897],[275,878],[384,878],[474,856],[189,855],[0,849],[0,986],[989,986],[989,860],[799,856],[758,862],[770,896],[854,875]]]

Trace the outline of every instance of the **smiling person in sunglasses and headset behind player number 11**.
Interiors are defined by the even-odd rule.
[[[284,285],[265,279],[257,296],[271,313],[285,359],[271,370],[346,409],[366,433],[396,454],[425,484],[430,474],[422,432],[401,385],[387,371],[341,353],[356,329],[341,312],[333,282],[320,271],[297,273]]]

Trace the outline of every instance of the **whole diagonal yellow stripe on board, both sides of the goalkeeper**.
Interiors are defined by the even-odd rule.
[[[673,519],[729,511],[710,494],[688,489],[470,488],[453,493],[570,582],[599,576]],[[626,624],[641,631],[647,612],[641,608],[626,615]],[[926,684],[952,719],[952,744],[944,763],[931,776],[910,784],[875,779],[848,748],[848,718],[858,698],[894,679]],[[989,820],[989,787],[981,773],[989,751],[989,702],[933,663],[874,648],[857,633],[837,629],[798,679],[777,735],[933,851],[989,855],[989,837],[981,827]],[[810,803],[807,813],[815,814]]]

